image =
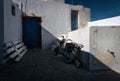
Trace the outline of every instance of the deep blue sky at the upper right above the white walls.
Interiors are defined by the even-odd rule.
[[[120,16],[120,0],[65,0],[91,9],[91,21]]]

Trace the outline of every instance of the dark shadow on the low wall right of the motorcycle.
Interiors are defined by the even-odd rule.
[[[111,69],[98,60],[93,54],[81,51],[80,58],[88,71],[110,71]]]

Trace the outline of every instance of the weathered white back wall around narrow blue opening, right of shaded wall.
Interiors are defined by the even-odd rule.
[[[42,17],[42,48],[46,48],[61,34],[71,31],[71,10],[78,10],[78,26],[85,27],[90,20],[90,10],[83,6],[65,4],[64,0],[13,0],[26,14]],[[20,5],[21,6],[21,5]]]

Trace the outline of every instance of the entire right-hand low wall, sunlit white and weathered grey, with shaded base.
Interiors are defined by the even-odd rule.
[[[68,38],[83,44],[82,60],[89,70],[112,69],[120,72],[120,17],[89,22],[68,33]]]

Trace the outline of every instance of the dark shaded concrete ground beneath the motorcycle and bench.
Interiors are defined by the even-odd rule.
[[[94,71],[65,64],[49,50],[31,50],[19,63],[0,65],[0,81],[120,81],[114,71]]]

